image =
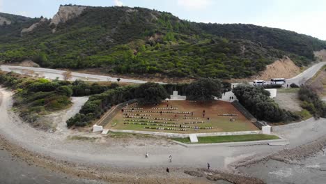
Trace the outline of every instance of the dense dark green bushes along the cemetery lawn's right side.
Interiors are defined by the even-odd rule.
[[[240,85],[233,89],[233,93],[252,115],[258,120],[270,123],[297,121],[300,116],[281,109],[270,98],[270,92],[261,86]]]

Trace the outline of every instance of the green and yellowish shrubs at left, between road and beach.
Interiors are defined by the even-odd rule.
[[[0,84],[15,90],[13,107],[20,117],[34,123],[40,116],[69,107],[70,96],[91,95],[114,89],[118,85],[101,86],[81,81],[49,81],[22,77],[13,72],[1,72]]]

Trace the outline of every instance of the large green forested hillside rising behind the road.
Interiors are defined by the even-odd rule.
[[[0,61],[32,59],[49,68],[228,79],[255,75],[284,55],[306,65],[314,59],[313,50],[326,47],[324,41],[281,29],[199,24],[171,13],[116,6],[87,7],[58,25],[45,20],[21,36],[22,26],[39,20],[0,26]]]

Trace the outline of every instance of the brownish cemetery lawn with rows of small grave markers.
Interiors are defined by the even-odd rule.
[[[166,105],[169,107],[178,108],[178,109],[152,109],[155,108],[165,108]],[[130,105],[128,108],[132,108],[134,105]],[[237,109],[230,103],[219,100],[214,100],[213,102],[190,102],[188,100],[170,100],[169,102],[162,102],[160,105],[153,106],[137,106],[135,109],[140,110],[141,112],[127,112],[128,109],[125,109],[124,112],[118,112],[114,118],[104,125],[106,129],[114,129],[114,130],[137,130],[137,131],[150,131],[150,132],[173,132],[173,133],[205,133],[205,132],[238,132],[238,131],[254,131],[258,130],[256,126],[251,123],[247,118],[245,118]],[[130,110],[130,109],[129,109]],[[203,117],[203,110],[205,110],[205,117]],[[144,111],[163,111],[163,112],[173,112],[173,113],[148,113]],[[193,112],[193,116],[191,114],[178,114],[174,112]],[[144,114],[148,116],[143,116],[144,118],[126,118],[123,117],[124,114],[139,114],[139,116],[143,116]],[[142,115],[141,115],[142,114]],[[218,114],[237,114],[238,116],[219,116]],[[184,119],[184,116],[196,119]],[[151,119],[147,119],[150,117]],[[166,121],[166,120],[158,120],[153,118],[171,118],[178,119],[178,121]],[[209,120],[207,118],[210,118]],[[230,121],[230,118],[235,118],[235,121]],[[125,121],[123,121],[125,119]],[[135,121],[137,120],[137,121]],[[146,123],[146,125],[139,124],[130,124],[130,123],[140,123],[138,121],[143,121],[141,123]],[[156,125],[147,125],[147,121],[156,121]],[[176,125],[176,127],[171,126],[163,126],[166,123],[176,123],[176,124],[167,124],[167,125]],[[189,122],[204,122],[204,123],[193,123],[193,124],[183,124]],[[180,130],[166,130],[166,128],[180,128],[179,126],[198,126],[202,129],[194,130],[194,128],[183,128],[187,131]],[[144,128],[147,127],[147,128]],[[154,128],[154,129],[149,129]],[[157,130],[156,128],[164,128],[164,130]],[[204,128],[212,128],[212,129],[204,129]]]

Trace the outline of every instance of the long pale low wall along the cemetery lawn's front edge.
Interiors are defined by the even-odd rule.
[[[134,134],[144,134],[144,135],[158,135],[164,137],[178,137],[185,138],[189,137],[190,134],[178,134],[178,133],[168,133],[168,132],[147,132],[147,131],[136,131],[136,130],[109,130],[110,132],[123,132],[123,133],[134,133]],[[211,132],[211,133],[194,133],[197,137],[209,137],[209,136],[223,136],[223,135],[252,135],[261,134],[261,130],[256,131],[242,131],[242,132]]]

